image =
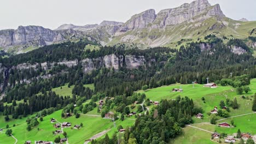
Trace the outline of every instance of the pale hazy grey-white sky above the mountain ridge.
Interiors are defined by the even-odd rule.
[[[55,29],[63,23],[86,25],[103,20],[125,22],[147,9],[178,7],[193,0],[8,0],[0,4],[0,29],[39,25]],[[256,0],[209,0],[235,20],[256,20]]]

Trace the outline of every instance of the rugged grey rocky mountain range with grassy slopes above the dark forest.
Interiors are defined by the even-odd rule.
[[[67,40],[88,38],[101,45],[136,45],[137,47],[171,46],[200,40],[214,33],[218,37],[247,38],[255,35],[256,21],[232,20],[220,5],[196,0],[180,7],[154,9],[133,15],[123,22],[102,21],[100,24],[75,26],[64,24],[57,29],[42,26],[19,26],[0,31],[0,47],[8,53],[24,53],[37,47]]]

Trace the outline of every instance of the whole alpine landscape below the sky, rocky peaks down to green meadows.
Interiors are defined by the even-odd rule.
[[[255,143],[255,52],[207,0],[1,30],[0,143]]]

